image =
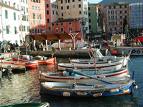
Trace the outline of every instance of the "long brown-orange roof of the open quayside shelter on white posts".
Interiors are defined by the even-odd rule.
[[[34,40],[68,40],[71,36],[67,33],[48,33],[48,34],[35,34],[29,35]]]

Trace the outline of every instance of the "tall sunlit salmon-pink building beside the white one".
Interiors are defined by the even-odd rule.
[[[45,0],[28,0],[30,33],[43,33],[46,30]]]

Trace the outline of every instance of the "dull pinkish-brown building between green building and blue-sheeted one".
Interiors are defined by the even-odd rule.
[[[109,4],[100,6],[102,29],[106,34],[124,33],[129,20],[128,4]],[[111,36],[111,35],[110,35]]]

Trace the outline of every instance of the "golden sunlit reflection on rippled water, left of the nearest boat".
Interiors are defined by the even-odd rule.
[[[0,104],[12,104],[39,100],[39,81],[37,72],[12,75],[12,78],[2,79],[0,89]]]

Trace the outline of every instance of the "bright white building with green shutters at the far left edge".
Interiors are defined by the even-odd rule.
[[[19,0],[0,0],[0,41],[20,43]]]

